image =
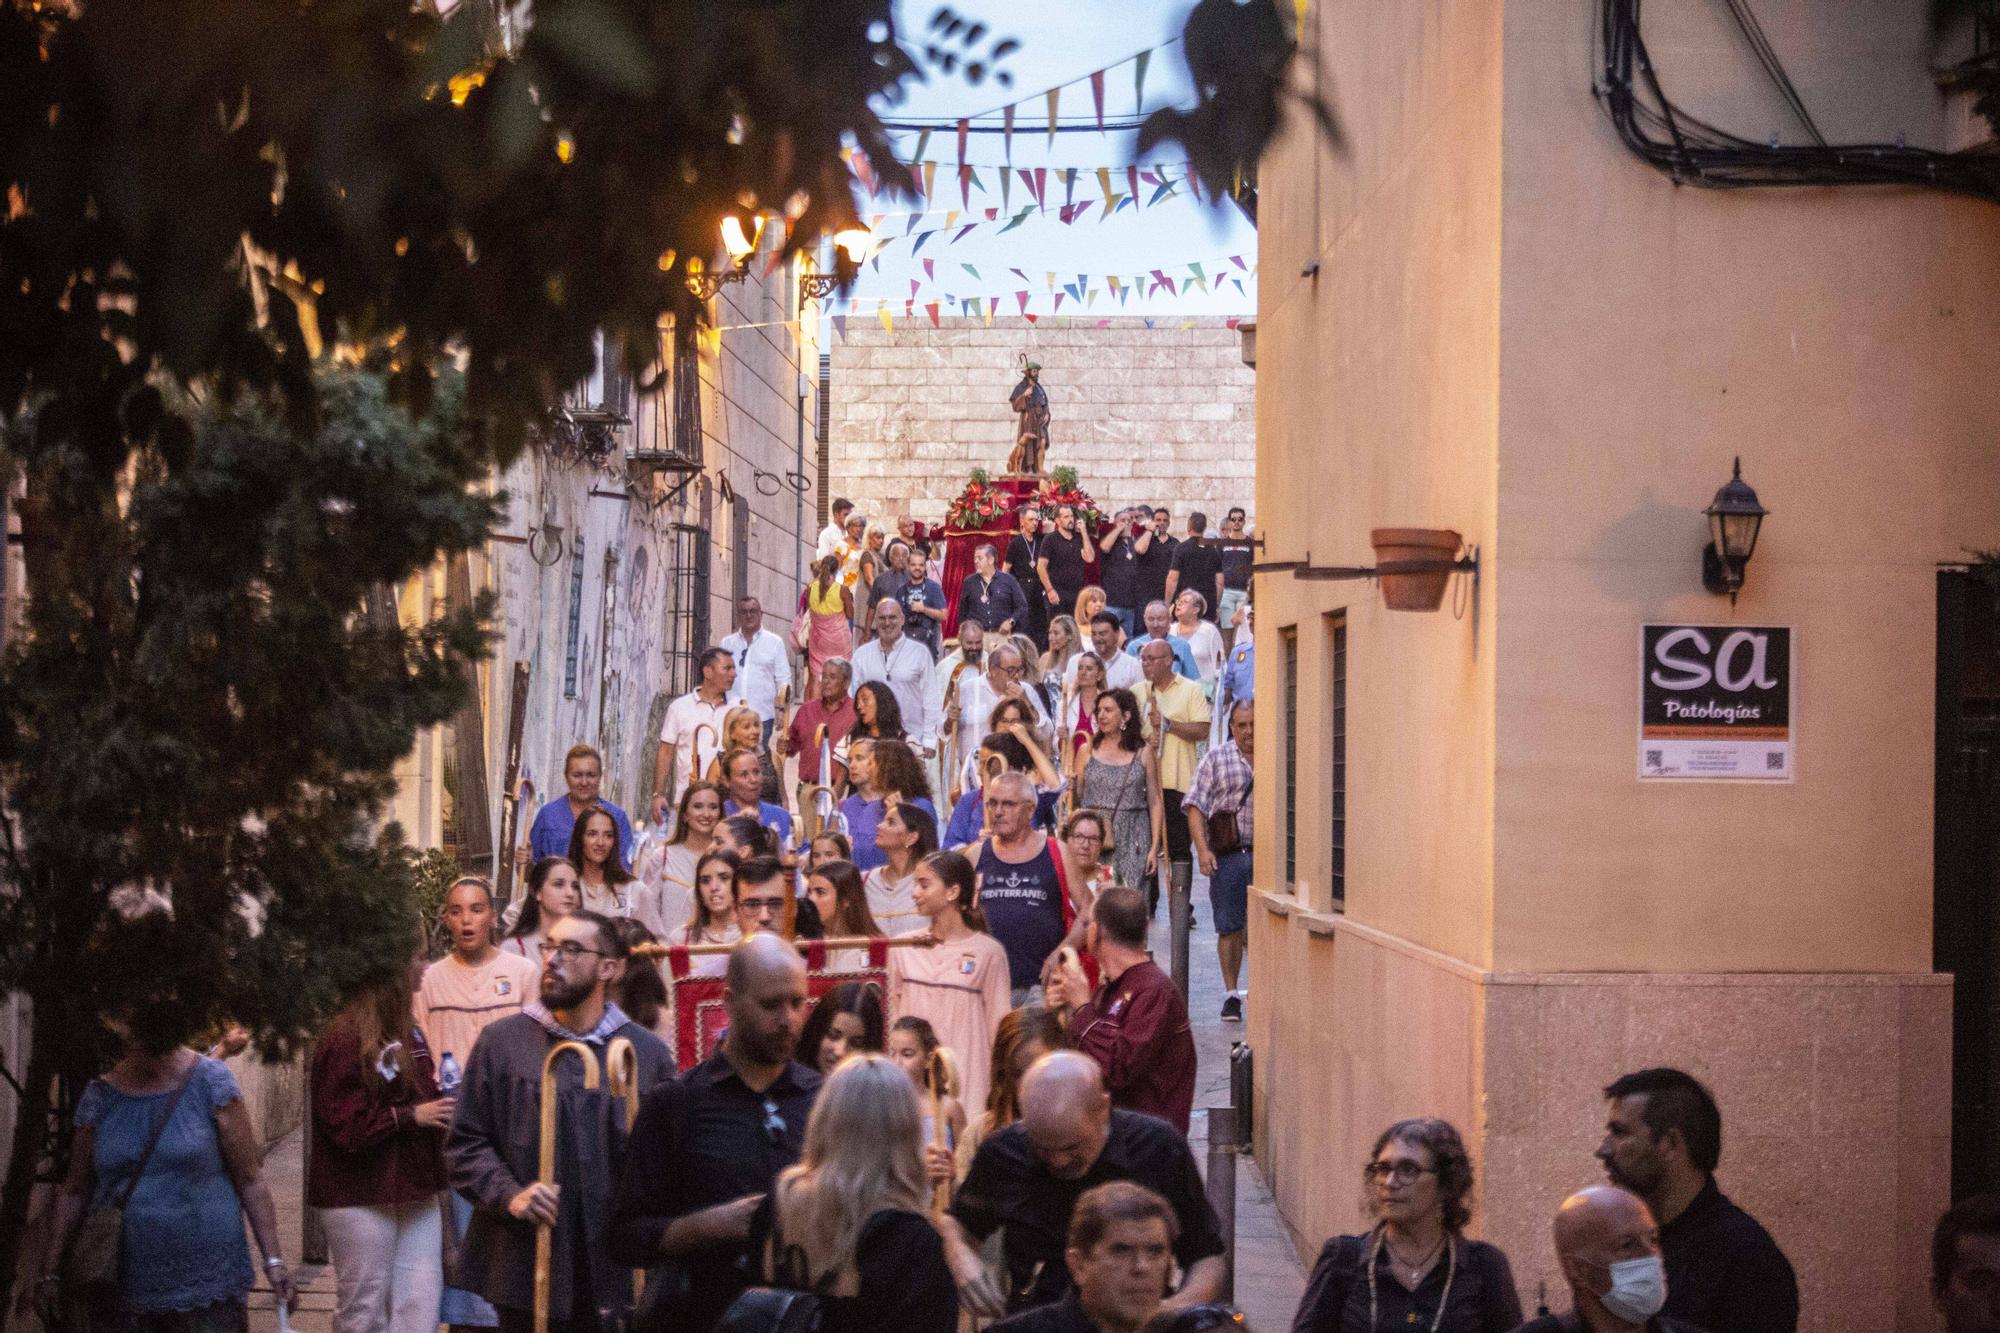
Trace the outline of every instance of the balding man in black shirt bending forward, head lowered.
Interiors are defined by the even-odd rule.
[[[1222,1293],[1226,1263],[1188,1141],[1166,1121],[1114,1111],[1096,1061],[1076,1051],[1044,1055],[1022,1079],[1018,1123],[986,1137],[972,1171],[938,1223],[960,1301],[982,1317],[1060,1301],[1076,1201],[1106,1181],[1132,1181],[1168,1201],[1178,1223],[1174,1259],[1186,1273],[1168,1309]],[[1002,1283],[980,1261],[980,1243],[1002,1237]]]

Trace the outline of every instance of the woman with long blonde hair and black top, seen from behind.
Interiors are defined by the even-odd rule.
[[[820,1291],[824,1333],[954,1333],[958,1289],[926,1211],[922,1111],[886,1055],[820,1085],[806,1153],[750,1223],[762,1279]]]

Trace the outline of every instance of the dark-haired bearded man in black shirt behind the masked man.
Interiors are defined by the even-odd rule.
[[[1598,1161],[1660,1221],[1666,1313],[1708,1333],[1796,1333],[1798,1279],[1754,1217],[1716,1189],[1722,1111],[1694,1077],[1642,1069],[1608,1089]]]

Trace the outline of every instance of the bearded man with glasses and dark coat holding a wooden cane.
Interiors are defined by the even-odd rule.
[[[556,1181],[540,1183],[542,1061],[560,1041],[580,1041],[592,1059],[624,1037],[638,1055],[638,1081],[668,1081],[666,1045],[616,1003],[606,987],[626,965],[612,923],[572,913],[542,945],[540,1001],[480,1033],[466,1065],[452,1135],[444,1145],[452,1189],[472,1201],[460,1281],[500,1313],[502,1333],[534,1327],[534,1237],[554,1229],[550,1329],[600,1333],[620,1325],[632,1273],[610,1255],[612,1179],[624,1157],[624,1103],[602,1083],[584,1089],[582,1061],[556,1061]]]

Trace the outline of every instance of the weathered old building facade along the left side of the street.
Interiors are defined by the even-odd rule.
[[[578,386],[586,424],[600,406],[624,418],[598,422],[594,446],[542,438],[496,478],[504,516],[466,586],[494,592],[498,638],[478,711],[424,733],[402,763],[396,817],[414,845],[482,865],[498,837],[516,664],[528,666],[520,771],[534,803],[562,795],[562,757],[584,743],[604,755],[604,797],[650,821],[666,705],[694,689],[736,598],[758,596],[766,626],[790,628],[816,534],[818,324],[810,306],[800,318],[796,264],[724,286],[712,310],[692,340],[662,334],[658,392],[616,370]],[[412,580],[402,614],[450,604],[452,576],[438,566]],[[460,745],[458,727],[480,743]],[[460,793],[484,795],[484,823]],[[520,819],[526,831],[532,809]]]

